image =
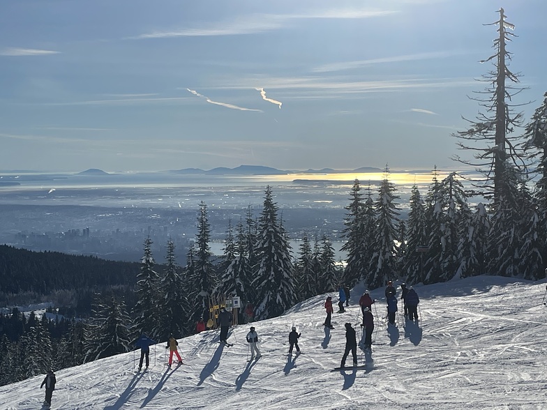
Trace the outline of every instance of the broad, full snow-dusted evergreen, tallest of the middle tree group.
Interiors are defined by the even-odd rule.
[[[257,266],[253,286],[259,303],[255,317],[277,317],[296,301],[294,268],[283,226],[278,222],[278,207],[269,185],[264,195],[264,207],[259,218]]]

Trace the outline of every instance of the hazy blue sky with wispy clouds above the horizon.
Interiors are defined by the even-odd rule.
[[[500,7],[528,120],[544,0],[2,0],[0,169],[458,167]]]

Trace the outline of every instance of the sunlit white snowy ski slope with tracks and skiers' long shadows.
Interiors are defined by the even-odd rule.
[[[545,280],[493,276],[415,286],[421,321],[405,323],[398,314],[390,328],[384,289],[371,291],[373,350],[357,350],[359,370],[334,367],[345,322],[361,337],[357,301],[364,288],[353,289],[345,313],[333,314],[332,331],[322,326],[326,295],[315,296],[253,324],[258,360],[247,361],[247,325],[232,328],[233,347],[218,344],[218,331],[206,331],[179,340],[185,364],[172,370],[163,343],[151,347],[147,372],[137,374],[138,352],[56,370],[52,409],[545,409],[545,287]],[[292,326],[301,333],[300,356],[287,356]],[[0,408],[39,409],[43,377],[1,386]]]

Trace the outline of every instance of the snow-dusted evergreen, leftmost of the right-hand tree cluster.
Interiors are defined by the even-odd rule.
[[[347,213],[344,218],[345,228],[342,231],[342,237],[346,239],[342,250],[347,252],[344,282],[350,287],[363,277],[368,267],[364,206],[361,185],[356,179],[350,191],[350,204],[345,206]]]

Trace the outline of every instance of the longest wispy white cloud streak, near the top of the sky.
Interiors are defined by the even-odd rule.
[[[160,30],[127,37],[126,40],[142,40],[146,38],[172,38],[195,36],[237,36],[241,34],[264,33],[280,29],[297,19],[363,19],[381,17],[397,13],[394,10],[375,10],[366,8],[342,8],[318,10],[310,13],[296,14],[252,14],[239,17],[236,20],[216,22],[195,28],[179,30]]]

